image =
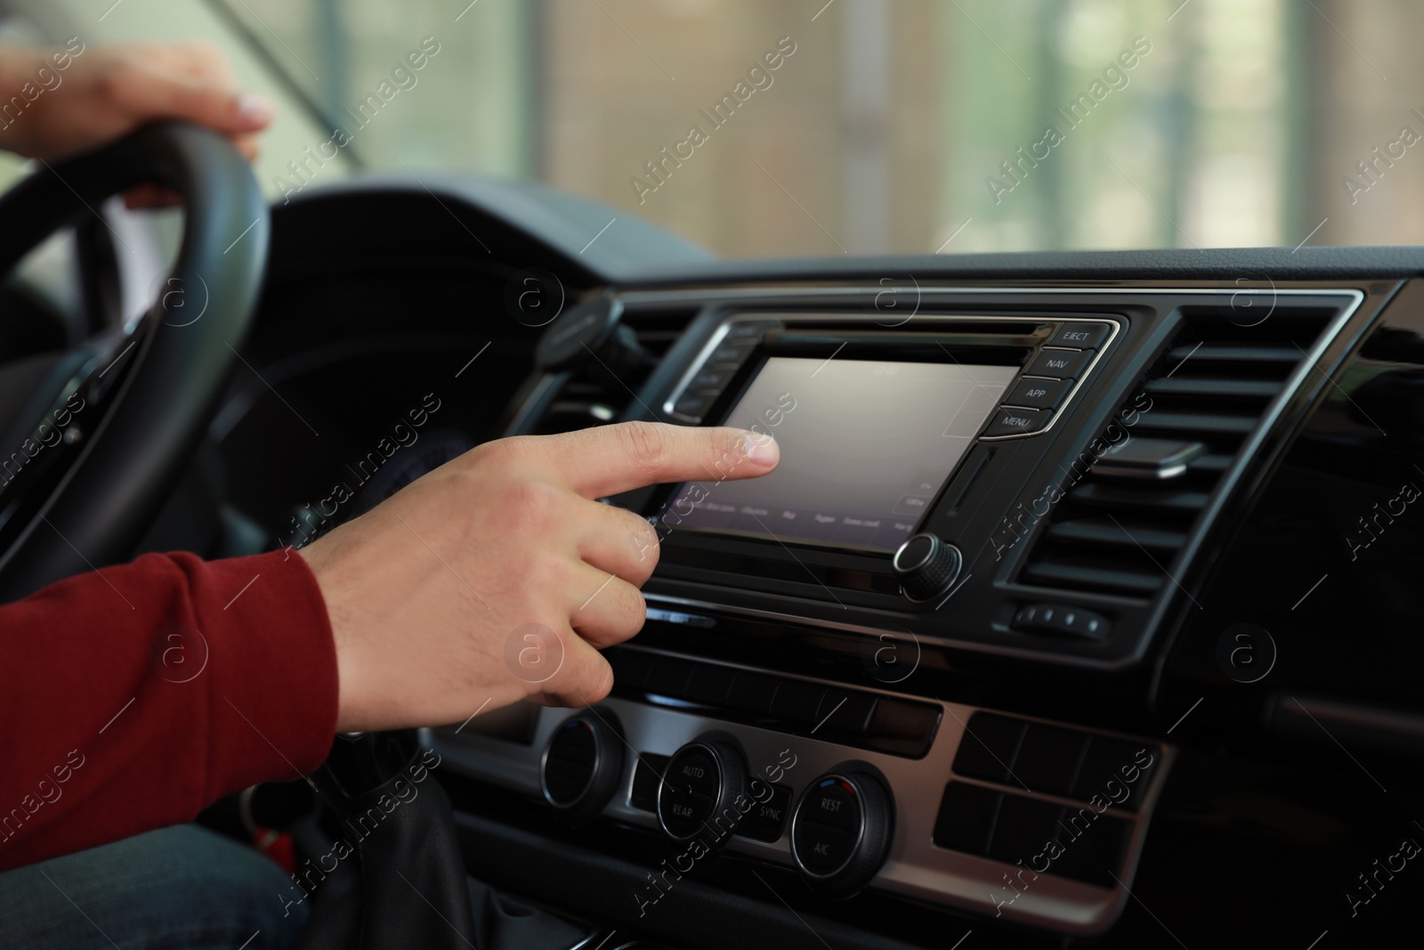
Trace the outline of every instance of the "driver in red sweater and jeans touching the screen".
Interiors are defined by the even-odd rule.
[[[0,47],[0,97],[53,73],[56,56]],[[199,46],[71,51],[63,83],[26,100],[0,147],[46,160],[164,118],[209,125],[251,157],[272,120]],[[755,477],[778,457],[733,429],[506,439],[300,551],[148,554],[0,605],[0,869],[14,869],[0,875],[0,944],[290,946],[305,912],[278,913],[289,887],[276,866],[182,823],[315,769],[336,732],[602,699],[612,674],[598,649],[642,627],[658,538],[597,499]],[[537,685],[506,662],[528,624],[561,642]]]

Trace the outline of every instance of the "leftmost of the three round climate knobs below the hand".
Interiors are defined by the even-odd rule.
[[[544,799],[571,825],[594,819],[622,778],[624,741],[611,712],[581,712],[554,729],[540,763]]]

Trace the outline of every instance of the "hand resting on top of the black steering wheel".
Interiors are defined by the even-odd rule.
[[[222,132],[251,160],[272,121],[271,104],[239,91],[222,51],[205,43],[0,47],[0,104],[10,105],[0,148],[44,160],[169,118]]]

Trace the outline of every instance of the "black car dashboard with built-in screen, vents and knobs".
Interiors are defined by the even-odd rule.
[[[276,208],[188,493],[209,550],[500,436],[731,423],[783,457],[607,500],[661,548],[608,699],[423,731],[473,875],[668,947],[1407,920],[1371,862],[1424,835],[1424,256],[712,262],[431,187]]]

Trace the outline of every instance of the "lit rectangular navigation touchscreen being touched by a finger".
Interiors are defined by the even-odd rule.
[[[686,483],[672,527],[893,551],[948,480],[1015,366],[773,356],[728,416],[782,461],[748,481]]]

